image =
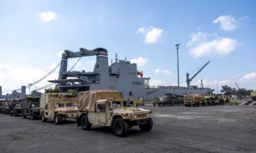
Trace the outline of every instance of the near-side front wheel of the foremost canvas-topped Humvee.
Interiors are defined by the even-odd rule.
[[[113,123],[113,130],[117,136],[126,136],[129,133],[129,124],[126,120],[117,118]]]

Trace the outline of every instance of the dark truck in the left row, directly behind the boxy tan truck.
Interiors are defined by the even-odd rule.
[[[26,97],[22,98],[22,117],[26,119],[30,116],[31,120],[35,120],[40,116],[40,98],[39,97]]]

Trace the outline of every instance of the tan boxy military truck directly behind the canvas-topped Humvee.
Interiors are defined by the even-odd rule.
[[[77,98],[69,93],[47,93],[40,97],[40,117],[42,122],[54,120],[55,124],[67,119],[77,119]]]

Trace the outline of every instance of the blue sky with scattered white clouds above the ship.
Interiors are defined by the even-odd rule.
[[[62,50],[80,47],[106,48],[109,64],[116,53],[137,62],[151,85],[177,85],[180,43],[180,85],[211,61],[191,85],[203,78],[214,89],[235,82],[256,89],[255,8],[255,1],[0,1],[0,85],[35,82]],[[93,61],[83,58],[75,70],[92,71]]]

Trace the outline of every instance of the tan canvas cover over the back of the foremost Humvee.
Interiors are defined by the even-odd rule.
[[[95,102],[99,99],[123,99],[123,93],[111,90],[83,91],[78,93],[78,110],[95,112]]]

